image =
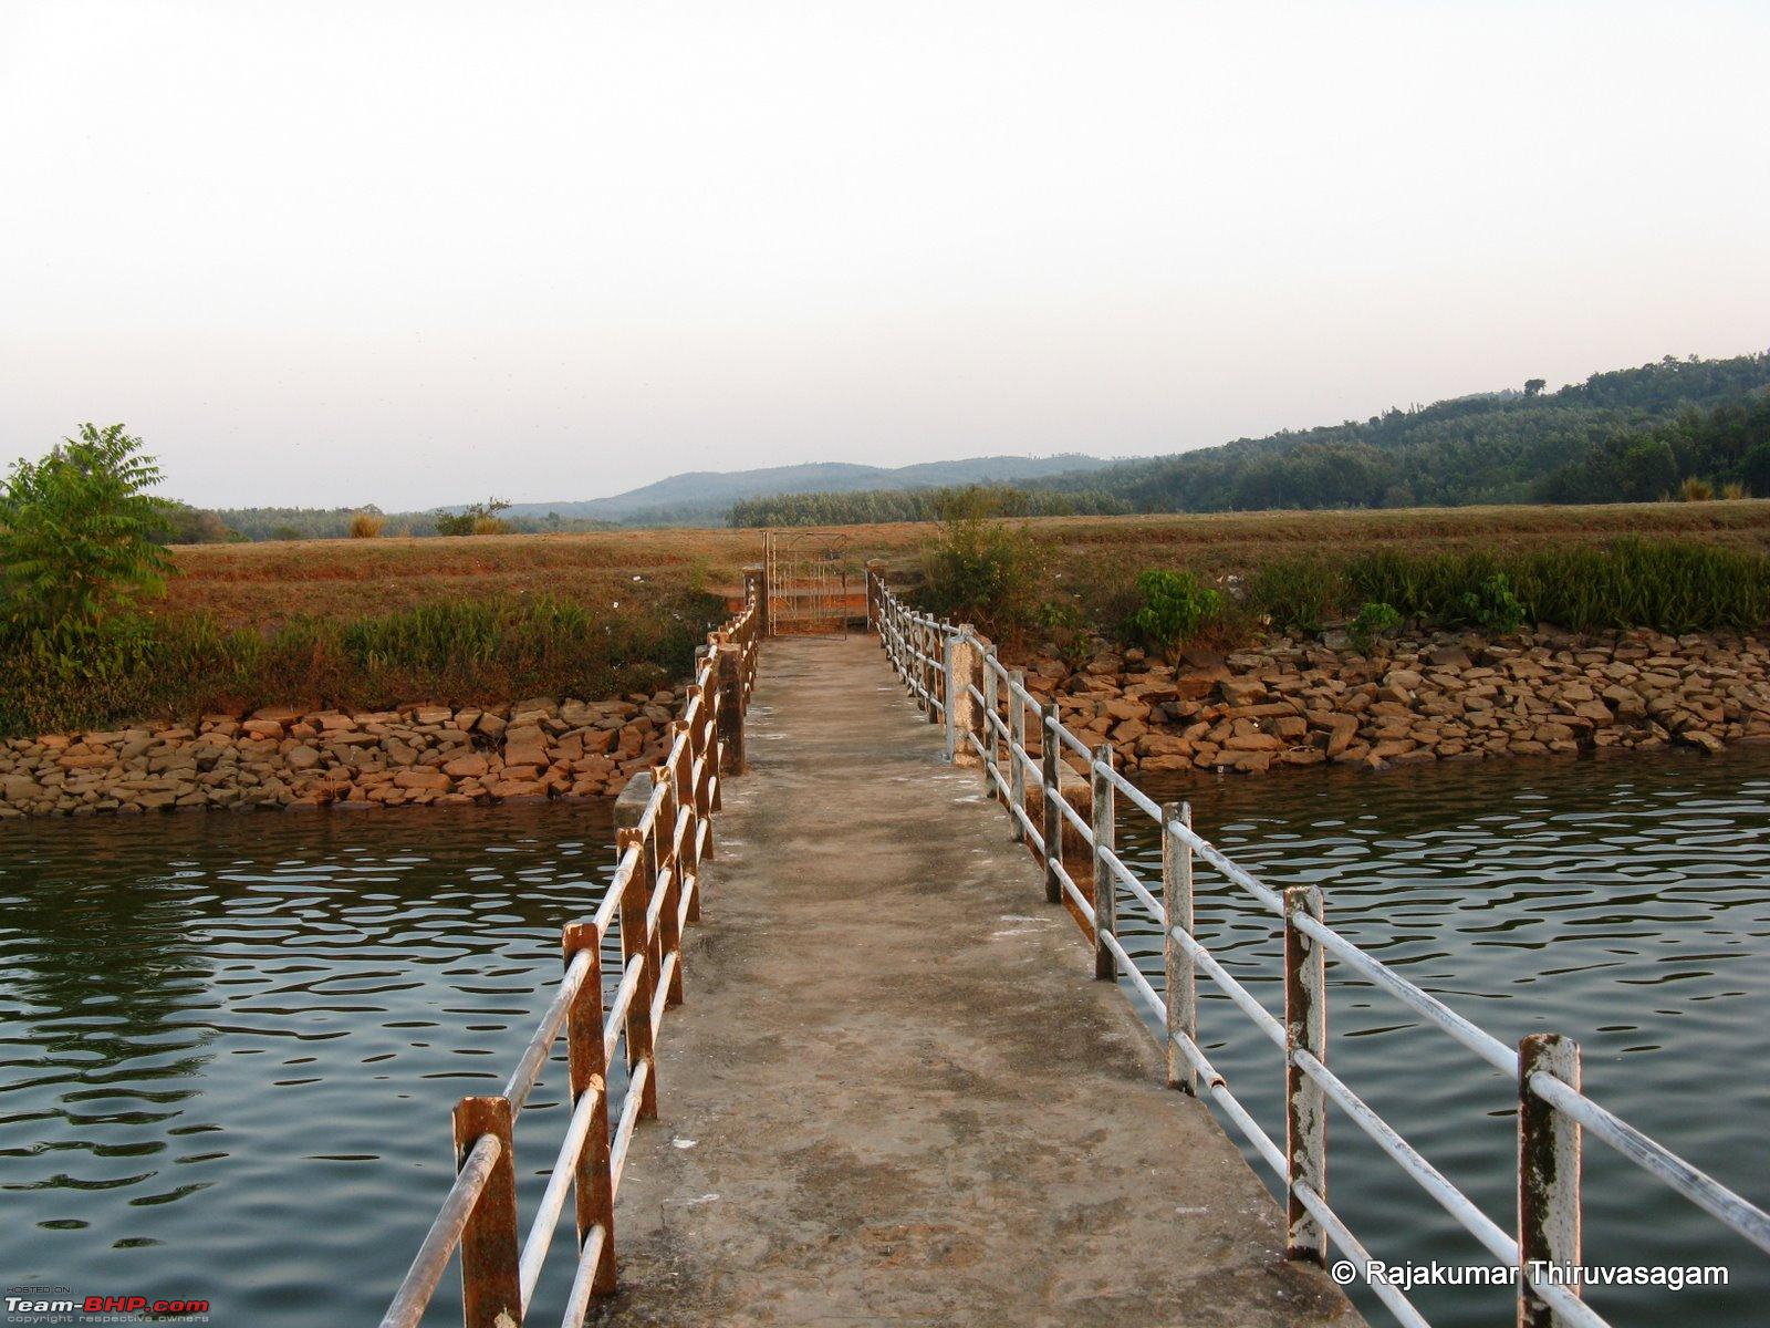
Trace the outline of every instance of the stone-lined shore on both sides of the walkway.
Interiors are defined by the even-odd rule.
[[[1101,650],[1014,657],[1126,774],[1581,756],[1770,742],[1770,645],[1651,630],[1435,632],[1359,653],[1340,634],[1271,637],[1174,666]],[[614,797],[664,754],[681,687],[616,699],[404,705],[158,721],[0,742],[0,820],[150,811],[373,811]]]

